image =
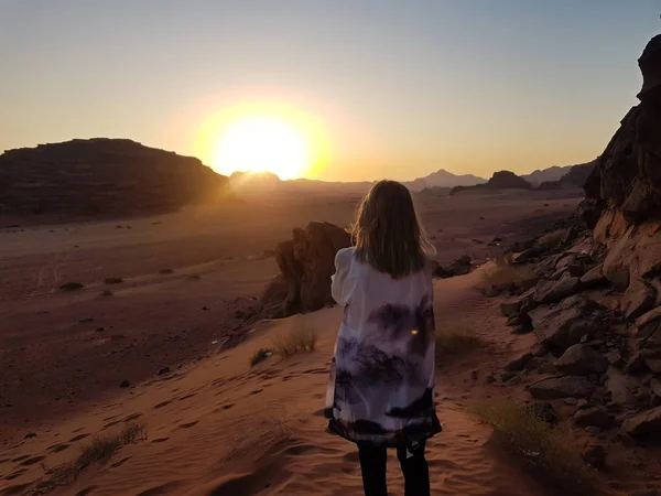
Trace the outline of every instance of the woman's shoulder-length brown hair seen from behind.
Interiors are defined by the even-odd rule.
[[[411,193],[395,181],[379,181],[362,198],[351,227],[358,260],[400,279],[425,268],[434,252]]]

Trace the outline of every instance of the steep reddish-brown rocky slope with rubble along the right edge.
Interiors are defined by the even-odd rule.
[[[501,380],[586,430],[597,468],[613,443],[661,434],[661,35],[638,63],[640,104],[595,161],[577,218],[512,248],[525,284],[489,290],[509,292],[509,324],[539,338]]]

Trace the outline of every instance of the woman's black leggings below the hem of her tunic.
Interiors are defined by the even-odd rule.
[[[358,444],[365,496],[388,496],[384,446]],[[404,474],[405,496],[430,496],[430,467],[424,457],[424,442],[413,448],[398,448],[397,457]]]

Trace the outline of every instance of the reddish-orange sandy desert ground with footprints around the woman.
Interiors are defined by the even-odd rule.
[[[499,251],[487,244],[495,236],[525,238],[579,200],[503,193],[419,204],[438,260],[468,254],[481,262]],[[347,225],[357,198],[267,203],[0,234],[0,494],[30,494],[44,468],[132,420],[145,422],[148,439],[56,494],[359,494],[355,449],[326,434],[322,416],[340,310],[242,319],[277,273],[264,250],[310,220]],[[484,377],[534,339],[510,334],[497,302],[476,290],[479,278],[436,282],[438,325],[469,325],[484,346],[438,369],[445,432],[429,448],[434,494],[553,494],[466,412],[498,392]],[[72,281],[85,288],[57,290]],[[319,333],[314,352],[250,367],[258,348],[301,321]],[[124,380],[131,386],[120,388]],[[395,468],[393,457],[391,490],[400,494]],[[611,487],[626,490],[615,475]]]

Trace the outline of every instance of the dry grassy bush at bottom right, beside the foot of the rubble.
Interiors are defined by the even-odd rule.
[[[534,411],[511,401],[491,400],[472,408],[478,420],[491,425],[497,439],[521,455],[535,474],[570,494],[590,494],[592,470],[583,462],[581,449],[567,423],[555,427]]]

